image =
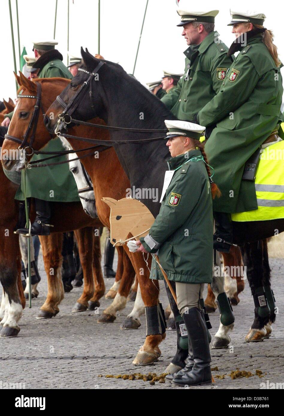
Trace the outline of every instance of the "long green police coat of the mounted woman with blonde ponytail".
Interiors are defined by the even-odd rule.
[[[237,213],[257,209],[253,181],[242,180],[249,157],[282,120],[282,76],[261,35],[247,39],[227,72],[219,93],[199,111],[202,126],[217,123],[205,151],[222,196],[213,210]]]

